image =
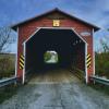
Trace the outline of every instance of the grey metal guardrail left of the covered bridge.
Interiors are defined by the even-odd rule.
[[[7,86],[7,85],[10,85],[12,83],[15,83],[17,81],[17,77],[10,77],[10,78],[5,78],[5,80],[1,80],[0,81],[0,87],[3,87],[3,86]]]

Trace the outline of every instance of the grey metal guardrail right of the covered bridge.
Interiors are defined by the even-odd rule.
[[[104,77],[90,76],[90,80],[93,80],[94,82],[104,84],[104,85],[109,85],[109,80],[104,78]]]

